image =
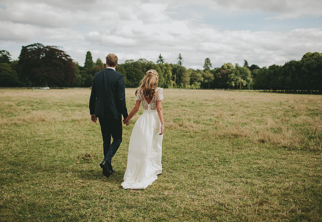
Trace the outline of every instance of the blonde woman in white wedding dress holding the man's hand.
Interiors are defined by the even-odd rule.
[[[162,173],[163,89],[157,87],[158,80],[156,70],[147,71],[135,92],[137,102],[123,120],[128,125],[142,102],[143,114],[133,127],[128,145],[128,164],[121,184],[124,189],[145,189]]]

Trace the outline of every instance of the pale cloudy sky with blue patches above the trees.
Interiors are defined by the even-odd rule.
[[[0,50],[17,59],[33,43],[60,46],[81,66],[159,54],[186,68],[259,67],[322,52],[321,0],[0,0]]]

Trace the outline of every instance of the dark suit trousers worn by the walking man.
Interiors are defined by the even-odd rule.
[[[99,125],[103,137],[104,160],[109,163],[109,168],[112,168],[112,157],[122,142],[122,120],[99,117]],[[112,144],[111,136],[113,138]]]

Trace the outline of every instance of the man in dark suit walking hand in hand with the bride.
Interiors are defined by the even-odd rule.
[[[95,73],[90,93],[91,120],[96,123],[99,118],[103,136],[104,160],[99,165],[106,177],[115,172],[112,157],[122,142],[122,115],[124,119],[128,117],[124,76],[115,71],[117,64],[116,55],[107,55],[106,69]]]

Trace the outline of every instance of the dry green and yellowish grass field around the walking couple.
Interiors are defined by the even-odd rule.
[[[142,107],[106,178],[89,96],[0,90],[0,221],[322,221],[322,96],[165,89],[163,174],[145,190],[121,187]]]

